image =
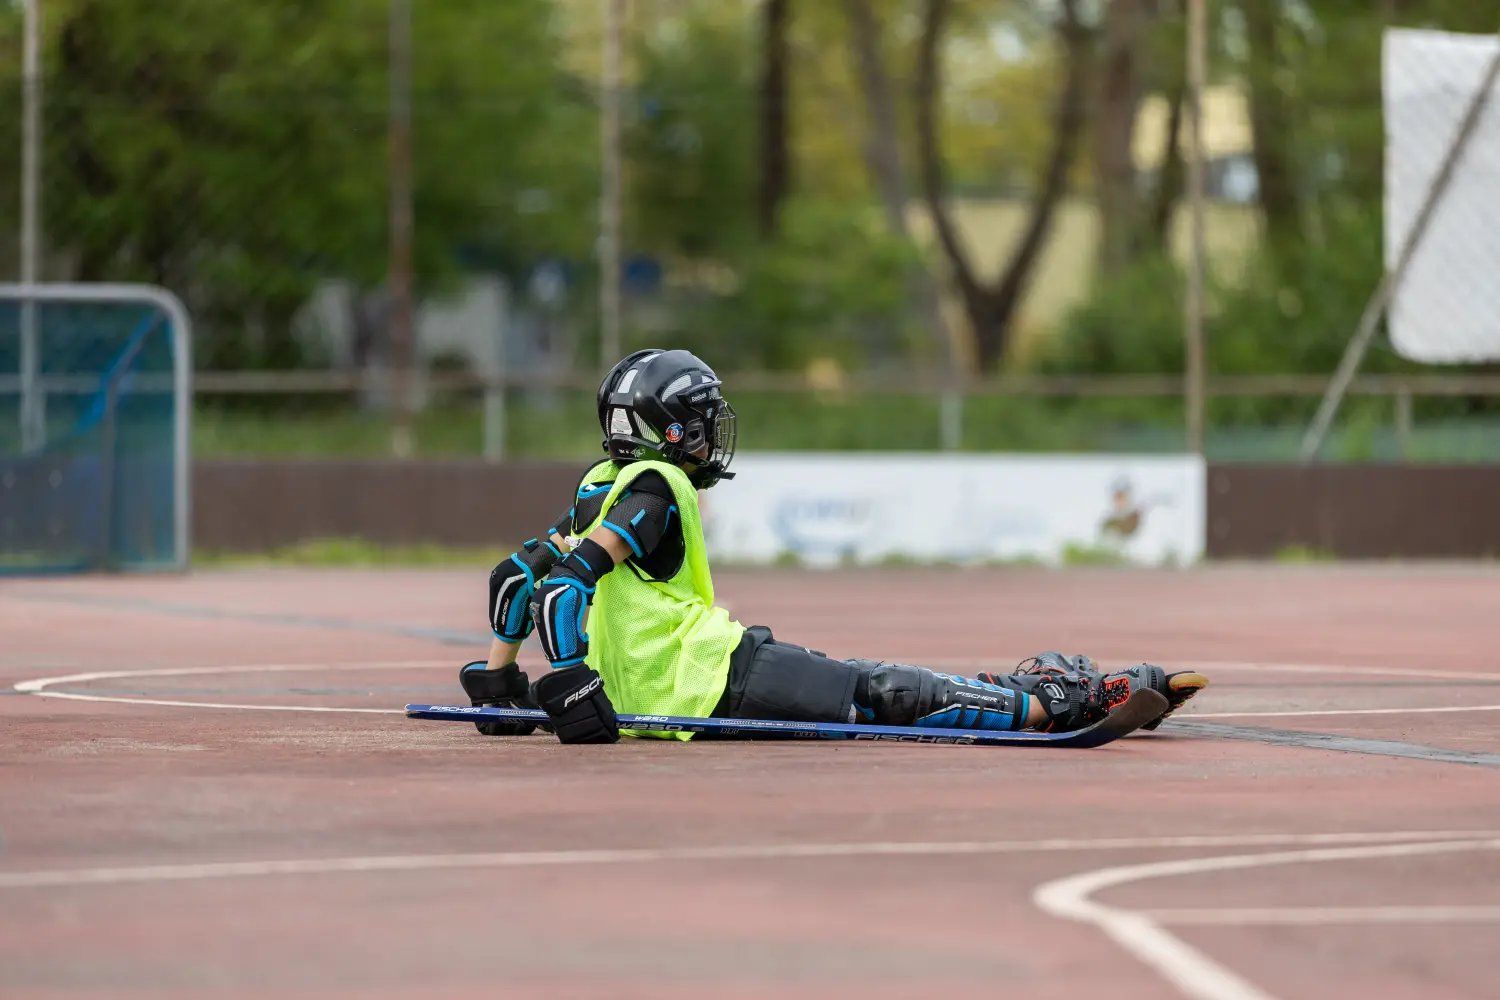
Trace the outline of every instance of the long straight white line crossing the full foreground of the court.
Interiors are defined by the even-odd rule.
[[[1200,837],[1114,837],[950,843],[744,844],[722,847],[663,847],[627,850],[501,852],[483,855],[382,855],[370,858],[303,858],[291,861],[231,861],[184,865],[140,865],[124,868],[0,871],[0,889],[98,886],[140,882],[198,882],[208,879],[316,876],[366,871],[438,871],[456,868],[543,868],[555,865],[626,865],[694,861],[789,861],[796,858],[1180,850],[1204,847],[1286,847],[1306,844],[1389,844],[1413,840],[1454,840],[1468,843],[1474,837],[1497,835],[1500,835],[1497,831],[1396,831],[1370,834],[1227,834]]]

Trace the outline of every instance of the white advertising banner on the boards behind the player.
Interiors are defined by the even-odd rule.
[[[702,495],[716,559],[1184,565],[1203,555],[1194,456],[759,453],[736,456],[734,471]]]

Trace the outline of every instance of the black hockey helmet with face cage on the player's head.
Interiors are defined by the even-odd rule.
[[[736,421],[722,385],[714,369],[687,351],[636,351],[598,384],[604,451],[621,465],[684,465],[700,490],[732,480]]]

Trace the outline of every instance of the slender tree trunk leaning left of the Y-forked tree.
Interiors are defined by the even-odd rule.
[[[846,0],[846,12],[866,102],[866,166],[880,192],[885,220],[891,232],[903,240],[910,238],[906,225],[906,180],[902,174],[896,97],[891,91],[891,78],[885,72],[885,60],[880,55],[880,27],[870,9],[870,0]],[[926,265],[918,264],[912,268],[910,288],[912,297],[936,340],[939,357],[948,364],[950,375],[956,375],[958,370],[957,351],[948,322],[942,315],[942,294]]]

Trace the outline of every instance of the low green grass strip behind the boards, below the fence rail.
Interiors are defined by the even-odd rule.
[[[750,451],[844,450],[933,451],[940,447],[939,403],[927,396],[867,393],[747,393],[730,387],[740,412],[740,447]],[[1228,423],[1210,408],[1210,459],[1294,462],[1317,400],[1288,403],[1276,423]],[[1419,400],[1420,402],[1420,400]],[[1420,414],[1422,406],[1418,406]],[[1500,462],[1500,421],[1419,420],[1406,450],[1389,399],[1354,397],[1330,435],[1335,462]],[[970,396],[963,405],[963,447],[972,451],[1170,453],[1185,438],[1178,399],[1083,399]],[[3,426],[0,426],[3,430]],[[478,457],[483,414],[477,400],[453,400],[417,417],[420,457]],[[390,420],[357,409],[298,412],[225,409],[200,402],[194,414],[200,457],[386,457]],[[512,459],[588,460],[600,454],[588,393],[516,393],[506,412]]]

